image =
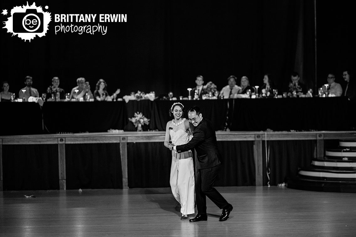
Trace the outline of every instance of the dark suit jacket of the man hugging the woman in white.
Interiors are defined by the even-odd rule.
[[[195,148],[197,169],[206,169],[220,164],[215,130],[210,120],[203,118],[193,131],[193,138],[187,144],[176,147],[178,153]]]

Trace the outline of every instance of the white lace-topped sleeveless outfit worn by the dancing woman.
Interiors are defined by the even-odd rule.
[[[179,123],[172,121],[169,130],[172,143],[183,145],[189,142],[189,134],[185,131],[184,120]],[[192,152],[176,153],[172,151],[171,178],[169,180],[173,196],[180,203],[180,212],[184,215],[193,214],[194,210],[194,165]]]

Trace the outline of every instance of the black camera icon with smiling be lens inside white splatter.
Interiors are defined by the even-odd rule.
[[[36,9],[27,9],[26,12],[15,12],[12,29],[15,33],[41,33],[43,32],[43,13]]]

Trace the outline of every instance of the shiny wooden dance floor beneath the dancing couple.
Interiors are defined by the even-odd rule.
[[[218,187],[230,218],[180,220],[169,188],[0,192],[0,236],[355,236],[356,194]],[[35,197],[25,197],[34,195]],[[192,215],[193,217],[194,215]]]

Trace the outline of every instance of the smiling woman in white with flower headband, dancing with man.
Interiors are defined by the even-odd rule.
[[[169,138],[174,145],[183,145],[192,137],[189,122],[183,118],[184,106],[177,102],[169,109],[169,116],[174,117],[167,122],[164,146],[168,148]],[[169,180],[173,196],[180,203],[180,220],[194,214],[194,166],[192,151],[177,153],[172,151],[171,177]]]

